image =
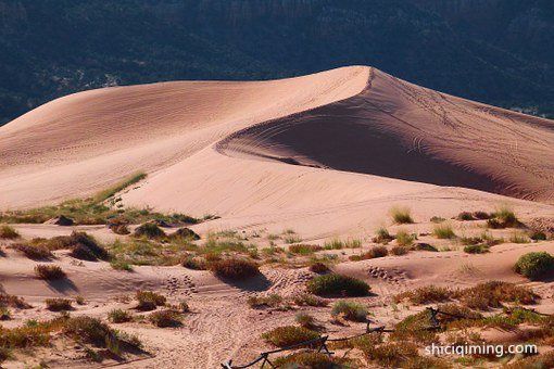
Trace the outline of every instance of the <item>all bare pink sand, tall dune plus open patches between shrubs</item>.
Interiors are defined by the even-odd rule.
[[[365,66],[270,81],[115,87],[58,99],[0,127],[0,209],[84,198],[142,170],[148,178],[121,193],[122,204],[219,216],[192,227],[203,237],[234,229],[250,237],[262,230],[264,238],[293,229],[304,242],[369,242],[381,225],[399,229],[388,219],[398,205],[412,209],[416,224],[405,228],[427,242],[430,217],[451,218],[462,211],[493,211],[507,203],[524,221],[554,219],[553,142],[552,120]],[[467,234],[482,227],[482,221],[453,224]],[[16,228],[25,238],[71,232],[49,225]],[[115,239],[103,226],[78,229]],[[368,281],[377,293],[368,304],[388,322],[392,317],[382,314],[383,306],[402,290],[491,279],[524,283],[512,266],[529,251],[553,252],[554,243],[507,242],[486,255],[414,252],[340,263],[336,270]],[[95,302],[83,313],[97,317],[122,305],[115,297],[137,289],[190,298],[198,314],[182,328],[126,327],[155,355],[128,367],[215,368],[229,357],[252,359],[262,351],[260,334],[290,323],[294,311],[249,309],[247,296],[291,295],[313,277],[305,268],[263,267],[263,281],[241,287],[180,266],[122,273],[105,263],[73,265],[65,254],[59,264],[72,284],[52,289],[33,278],[33,262],[10,252],[0,257],[0,292],[32,303],[78,293]],[[467,264],[477,271],[464,273],[461,266]],[[552,294],[551,283],[532,285]],[[541,308],[554,313],[550,301]],[[326,319],[325,313],[311,311]],[[29,314],[47,316],[39,309],[17,319]],[[330,334],[356,329],[333,327]]]

